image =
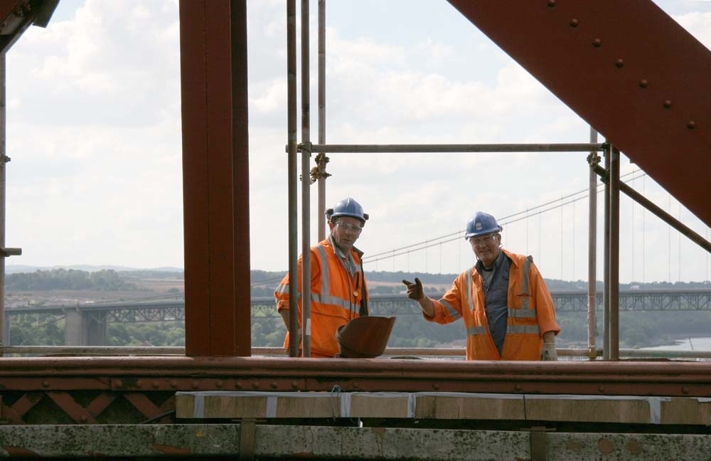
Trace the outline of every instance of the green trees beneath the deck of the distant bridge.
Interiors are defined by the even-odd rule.
[[[373,314],[377,315],[377,312]],[[64,344],[64,319],[52,314],[21,314],[10,317],[9,345]],[[560,312],[560,348],[587,347],[587,312]],[[708,337],[711,312],[620,312],[620,346],[624,349],[664,346],[675,339]],[[602,344],[602,318],[597,319]],[[281,317],[252,319],[252,345],[279,347],[286,327]],[[413,302],[412,314],[397,317],[390,334],[390,347],[463,347],[464,324],[461,319],[447,325],[427,322]],[[183,322],[109,323],[109,346],[184,346]]]

